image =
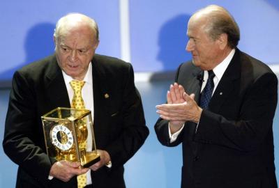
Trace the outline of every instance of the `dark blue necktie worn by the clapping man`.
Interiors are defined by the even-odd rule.
[[[202,96],[199,102],[199,106],[202,109],[208,109],[209,107],[209,101],[211,100],[211,96],[214,88],[214,82],[213,82],[214,77],[215,74],[213,70],[209,70],[209,79],[207,79],[206,85],[204,87],[204,90],[202,91]]]

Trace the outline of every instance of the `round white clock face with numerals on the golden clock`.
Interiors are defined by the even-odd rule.
[[[60,150],[68,150],[73,146],[73,134],[65,125],[55,125],[50,131],[52,144]]]

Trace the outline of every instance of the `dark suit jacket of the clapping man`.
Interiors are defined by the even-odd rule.
[[[199,102],[203,71],[183,63],[176,80]],[[239,49],[229,63],[196,124],[186,122],[181,134],[169,142],[167,121],[158,119],[155,130],[165,146],[183,145],[181,187],[277,187],[273,116],[278,79],[264,63]]]

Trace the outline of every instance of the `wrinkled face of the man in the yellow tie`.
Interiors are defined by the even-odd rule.
[[[63,29],[54,40],[60,68],[73,79],[84,79],[98,47],[95,33],[88,26],[80,26]]]

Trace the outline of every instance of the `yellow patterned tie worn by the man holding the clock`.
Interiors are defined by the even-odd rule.
[[[84,86],[84,81],[70,81],[70,86],[72,86],[74,91],[71,107],[73,109],[85,109],[84,100],[82,99],[82,87]],[[83,145],[84,146],[82,147],[86,148],[86,141]],[[86,173],[77,175],[77,187],[83,188],[84,186],[86,186]]]

